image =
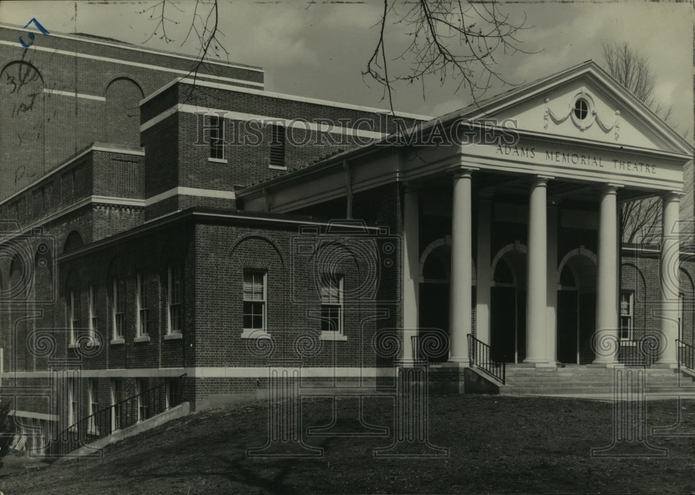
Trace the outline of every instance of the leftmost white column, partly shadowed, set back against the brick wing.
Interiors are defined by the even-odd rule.
[[[413,359],[412,336],[418,332],[418,277],[420,273],[420,207],[417,188],[403,193],[403,355]]]

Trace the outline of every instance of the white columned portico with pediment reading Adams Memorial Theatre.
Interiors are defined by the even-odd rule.
[[[471,365],[470,335],[496,361],[612,367],[641,332],[673,367],[691,159],[686,140],[589,61],[265,183],[245,207],[313,214],[350,191],[345,218],[360,218],[359,193],[393,186],[405,358],[412,337],[440,331],[435,360],[450,366]],[[641,303],[660,324],[637,327],[621,292],[620,211],[649,197],[662,202],[661,290]]]

